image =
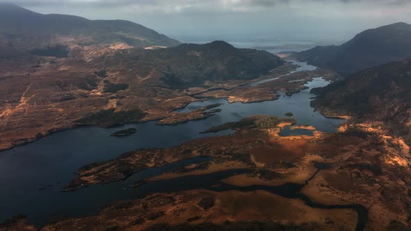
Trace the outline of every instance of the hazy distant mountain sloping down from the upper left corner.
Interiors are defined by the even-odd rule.
[[[33,40],[32,38],[36,38]],[[88,20],[71,15],[42,15],[0,3],[0,41],[10,47],[47,45],[110,45],[172,47],[180,42],[123,20]]]

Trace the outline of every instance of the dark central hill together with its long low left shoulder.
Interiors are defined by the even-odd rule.
[[[121,58],[121,56],[130,59]],[[102,67],[116,69],[149,67],[152,79],[166,84],[166,88],[183,89],[228,80],[256,79],[285,62],[267,51],[237,49],[223,41],[205,45],[184,44],[169,49],[134,49],[102,57]]]

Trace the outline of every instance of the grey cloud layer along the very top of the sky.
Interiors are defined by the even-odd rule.
[[[224,15],[346,18],[410,18],[411,0],[0,0],[41,13],[81,13],[83,17],[131,15]],[[134,16],[137,17],[137,16]],[[402,19],[404,18],[404,19]]]

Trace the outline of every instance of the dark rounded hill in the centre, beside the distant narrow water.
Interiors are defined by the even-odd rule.
[[[206,81],[256,79],[285,63],[267,51],[237,49],[224,41],[185,44],[154,53],[166,65],[162,80],[171,88],[202,86]]]

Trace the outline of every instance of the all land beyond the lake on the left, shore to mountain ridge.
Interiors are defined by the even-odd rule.
[[[206,118],[173,110],[217,83],[247,83],[283,64],[266,51],[222,41],[181,45],[133,22],[1,3],[0,150],[78,125]]]

